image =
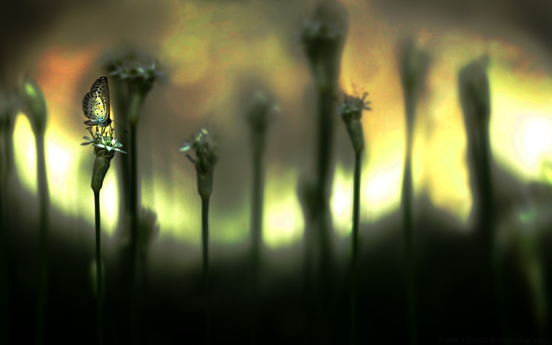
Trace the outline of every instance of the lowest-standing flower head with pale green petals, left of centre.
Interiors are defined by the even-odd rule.
[[[195,158],[186,155],[190,162],[194,163],[198,172],[198,190],[201,197],[209,197],[213,187],[213,169],[218,157],[219,137],[213,134],[213,130],[201,128],[190,140],[184,140],[184,146],[179,150],[186,152],[195,151]]]

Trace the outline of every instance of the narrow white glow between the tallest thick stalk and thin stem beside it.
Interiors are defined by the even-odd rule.
[[[348,236],[353,226],[353,170],[337,164],[330,197],[333,229],[341,237]]]

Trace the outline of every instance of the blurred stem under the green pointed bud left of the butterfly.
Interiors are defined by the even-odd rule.
[[[36,343],[44,342],[44,322],[46,313],[46,294],[48,285],[48,181],[46,178],[46,160],[44,152],[44,130],[35,131],[36,174],[39,197],[39,291],[36,321]]]

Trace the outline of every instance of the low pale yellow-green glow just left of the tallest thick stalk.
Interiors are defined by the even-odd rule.
[[[299,241],[304,232],[301,205],[297,198],[297,172],[282,171],[277,166],[267,169],[264,190],[263,241],[272,249]]]

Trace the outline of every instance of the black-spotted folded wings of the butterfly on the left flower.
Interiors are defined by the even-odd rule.
[[[111,125],[107,77],[99,77],[94,82],[90,92],[84,96],[82,110],[84,110],[84,116],[89,119],[84,121],[84,124],[98,127]]]

